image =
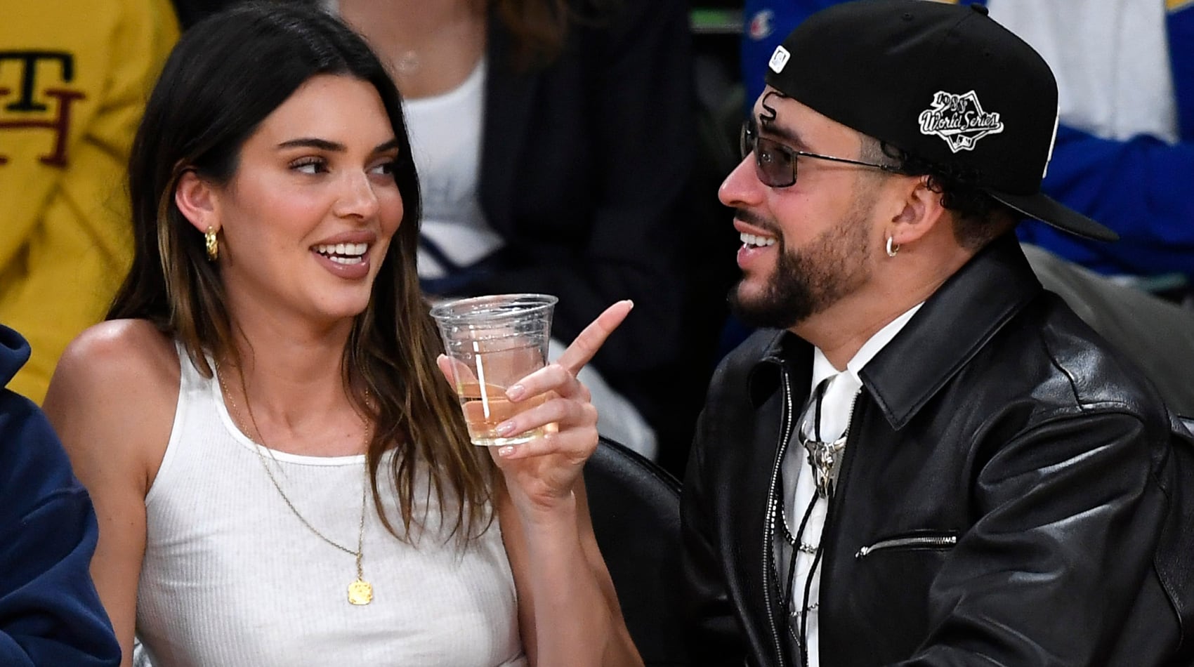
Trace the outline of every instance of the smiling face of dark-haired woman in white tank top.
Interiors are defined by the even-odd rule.
[[[398,140],[373,85],[318,75],[261,122],[213,190],[236,317],[351,319],[402,220]]]

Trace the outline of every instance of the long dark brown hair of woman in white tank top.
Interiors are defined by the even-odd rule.
[[[410,539],[416,488],[425,462],[430,490],[456,505],[451,535],[464,542],[492,523],[492,461],[468,440],[457,400],[436,368],[442,344],[419,290],[417,247],[419,184],[398,89],[369,47],[319,10],[248,4],[209,17],[184,33],[146,106],[129,162],[135,251],[109,319],[147,319],[183,342],[205,377],[208,354],[238,368],[234,326],[224,289],[205,257],[203,235],[174,204],[178,178],[193,171],[227,184],[240,149],[261,121],[318,74],[371,84],[399,141],[394,179],[402,224],[374,282],[369,305],[356,316],[341,368],[345,393],[374,421],[367,451],[374,502],[386,527]],[[404,530],[386,515],[378,476],[383,455],[398,489]]]

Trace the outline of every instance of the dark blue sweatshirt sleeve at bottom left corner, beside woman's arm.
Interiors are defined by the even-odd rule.
[[[5,387],[29,344],[0,326]],[[121,647],[88,567],[99,529],[45,415],[0,390],[0,666],[117,666]]]

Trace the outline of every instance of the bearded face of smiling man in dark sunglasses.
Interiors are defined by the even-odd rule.
[[[783,147],[858,158],[857,132],[770,88],[753,116],[758,136]],[[792,328],[870,279],[873,186],[882,172],[800,156],[795,183],[771,187],[759,180],[755,160],[747,155],[719,190],[721,202],[736,209],[743,240],[743,277],[730,294],[731,307],[750,326]]]

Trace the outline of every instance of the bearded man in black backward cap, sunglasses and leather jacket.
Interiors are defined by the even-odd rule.
[[[1046,63],[981,7],[863,0],[768,67],[720,198],[770,328],[690,455],[696,662],[1190,665],[1194,438],[1013,234],[1115,237],[1040,193]]]

